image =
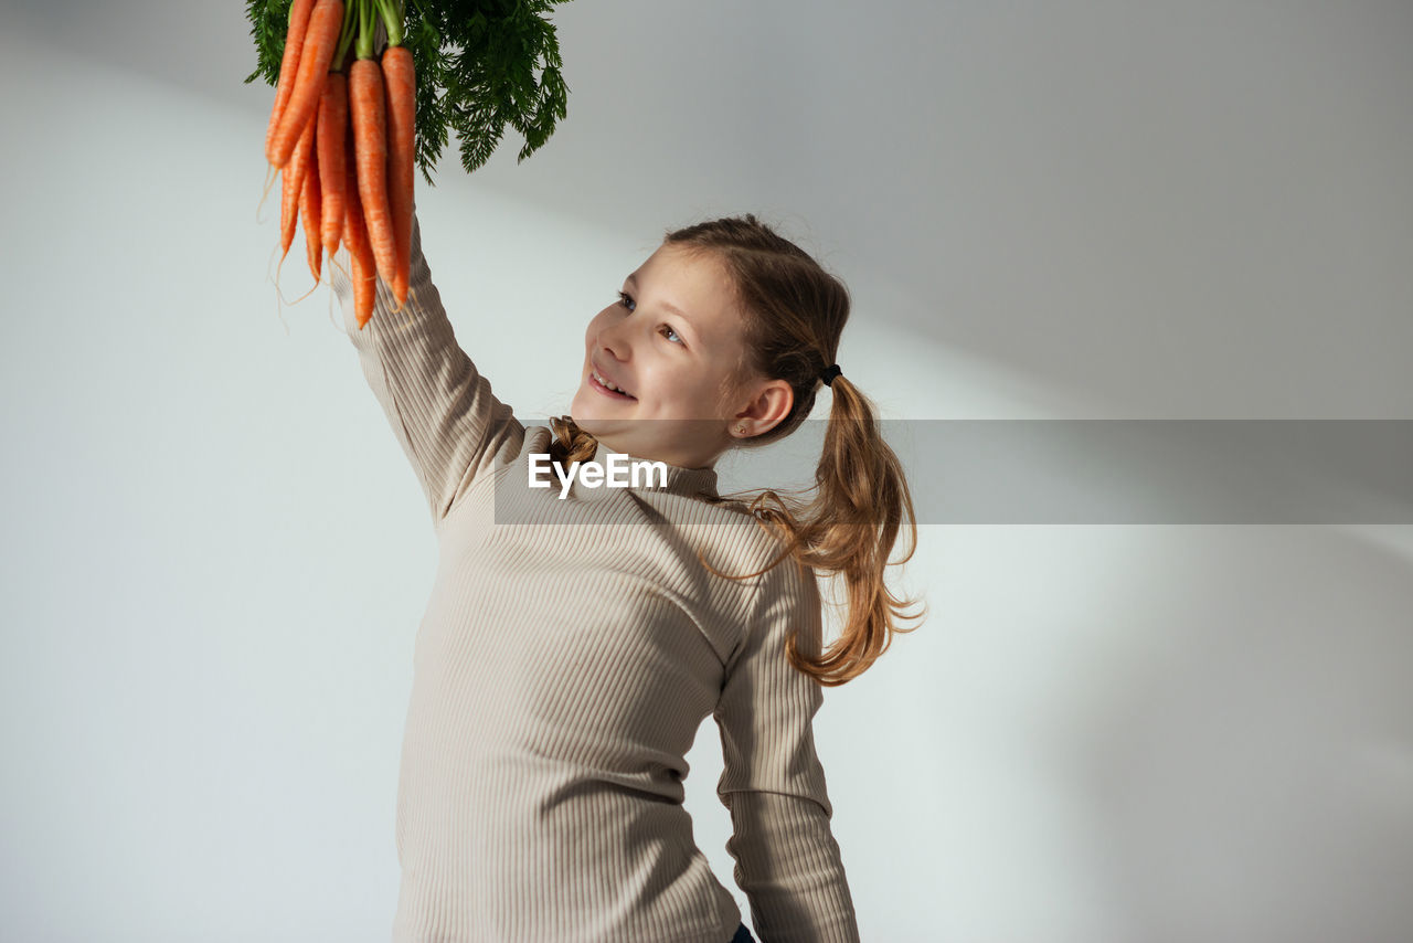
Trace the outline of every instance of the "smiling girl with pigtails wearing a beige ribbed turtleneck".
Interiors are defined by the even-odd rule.
[[[756,933],[858,940],[811,722],[821,686],[911,631],[883,571],[913,506],[834,363],[845,287],[752,215],[671,232],[589,321],[571,416],[527,427],[458,345],[418,225],[404,310],[379,280],[359,328],[348,262],[332,267],[348,335],[439,546],[398,779],[394,943],[752,940],[682,807],[708,714]],[[817,500],[718,495],[718,457],[788,435],[824,385]],[[561,474],[625,459],[666,475]],[[533,486],[545,462],[561,471]],[[814,568],[849,594],[824,653]]]

